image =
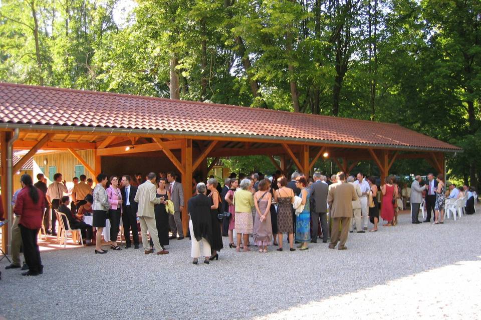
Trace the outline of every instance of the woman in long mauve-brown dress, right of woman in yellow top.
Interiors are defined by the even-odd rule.
[[[267,246],[272,241],[270,184],[269,179],[262,179],[259,182],[259,191],[254,193],[254,205],[256,207],[254,244],[259,246],[259,252],[267,252]]]

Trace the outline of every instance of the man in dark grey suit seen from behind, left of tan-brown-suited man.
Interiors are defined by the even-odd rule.
[[[329,185],[324,182],[324,176],[319,172],[313,174],[314,183],[311,185],[311,217],[312,217],[312,234],[311,242],[317,242],[317,230],[319,218],[321,219],[322,242],[327,242],[329,236],[329,227],[327,224],[327,193]]]

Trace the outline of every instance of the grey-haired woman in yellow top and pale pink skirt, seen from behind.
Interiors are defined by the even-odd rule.
[[[254,220],[252,219],[252,207],[254,206],[254,197],[250,191],[251,180],[243,179],[240,181],[240,189],[235,191],[233,203],[235,207],[235,230],[237,230],[237,246],[236,251],[240,251],[240,236],[244,237],[244,251],[250,251],[247,243],[249,243],[249,234],[254,229]]]

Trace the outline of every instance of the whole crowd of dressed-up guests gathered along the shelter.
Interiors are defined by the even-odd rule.
[[[154,251],[168,254],[169,240],[184,238],[183,187],[176,180],[175,172],[150,172],[145,177],[136,174],[134,179],[129,175],[108,177],[101,173],[96,177],[94,188],[93,183],[81,175],[73,179],[70,190],[61,173],[56,173],[48,186],[42,173],[37,178],[38,182],[33,184],[30,175],[22,175],[22,188],[12,199],[13,261],[7,269],[22,268],[27,270],[24,275],[43,273],[37,234],[43,226],[46,233],[57,235],[57,212],[64,219],[61,224],[80,229],[86,244],[95,245],[95,254],[107,253],[104,245],[114,251],[122,249],[118,244],[121,221],[125,249],[131,248],[132,243],[135,249],[140,248],[139,231],[145,254]],[[348,233],[354,230],[364,233],[369,221],[373,224],[371,232],[378,230],[380,217],[385,221],[383,226],[396,225],[397,213],[405,206],[402,198],[406,195],[410,198],[415,224],[421,223],[418,217],[422,204],[427,211],[422,222],[430,222],[431,211],[434,211],[433,224],[439,224],[444,220],[445,198],[467,195],[466,213],[474,212],[477,198],[475,189],[466,185],[456,188],[451,183],[446,190],[443,175],[434,178],[431,173],[426,182],[415,176],[410,188],[400,186],[394,176],[386,177],[380,187],[381,209],[376,178],[364,177],[361,172],[346,176],[340,171],[329,179],[320,172],[314,172],[312,177],[294,172],[290,180],[280,171],[272,179],[260,173],[237,178],[233,173],[224,180],[223,187],[210,176],[206,183],[193,184],[192,191],[187,207],[194,264],[198,264],[201,256],[206,264],[218,259],[218,252],[223,249],[222,236],[228,237],[230,248],[244,252],[255,246],[259,252],[266,253],[271,245],[283,251],[286,233],[290,251],[307,250],[318,238],[324,243],[330,239],[329,248],[337,246],[344,250]],[[107,224],[109,232],[104,232]],[[21,247],[25,257],[23,266]]]

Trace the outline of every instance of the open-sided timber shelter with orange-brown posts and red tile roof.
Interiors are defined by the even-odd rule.
[[[28,152],[14,163],[14,149]],[[207,157],[212,167],[220,157],[265,155],[284,172],[309,172],[323,157],[346,172],[373,160],[383,181],[396,159],[424,158],[444,172],[444,154],[461,150],[394,123],[0,83],[2,201],[10,223],[14,174],[40,149],[68,150],[92,177],[155,171],[150,166],[164,159],[180,173],[185,201],[193,172],[209,171]],[[182,223],[185,233],[186,207]],[[2,235],[6,250],[6,226]]]

